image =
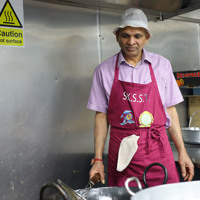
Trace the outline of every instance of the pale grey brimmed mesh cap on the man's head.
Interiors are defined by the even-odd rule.
[[[127,26],[145,28],[150,34],[147,17],[140,9],[129,8],[125,10],[119,25],[114,29],[113,33],[116,34],[119,28],[125,28]]]

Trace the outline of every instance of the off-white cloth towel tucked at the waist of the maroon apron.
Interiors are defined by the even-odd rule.
[[[129,165],[138,149],[137,141],[139,137],[137,135],[131,135],[121,141],[117,160],[117,171],[121,172]]]

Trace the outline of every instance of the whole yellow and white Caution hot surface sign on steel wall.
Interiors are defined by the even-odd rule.
[[[23,24],[23,0],[1,0],[0,46],[24,47]]]

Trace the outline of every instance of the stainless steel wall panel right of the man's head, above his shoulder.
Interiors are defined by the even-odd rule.
[[[173,71],[200,69],[199,25],[182,21],[150,22],[147,50],[168,58]]]

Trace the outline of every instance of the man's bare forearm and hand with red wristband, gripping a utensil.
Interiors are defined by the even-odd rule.
[[[108,133],[108,120],[107,114],[96,112],[95,115],[95,128],[94,128],[94,145],[95,145],[95,158],[103,159],[104,145]],[[101,182],[105,184],[104,164],[102,161],[95,161],[90,170],[90,179],[98,173]]]

